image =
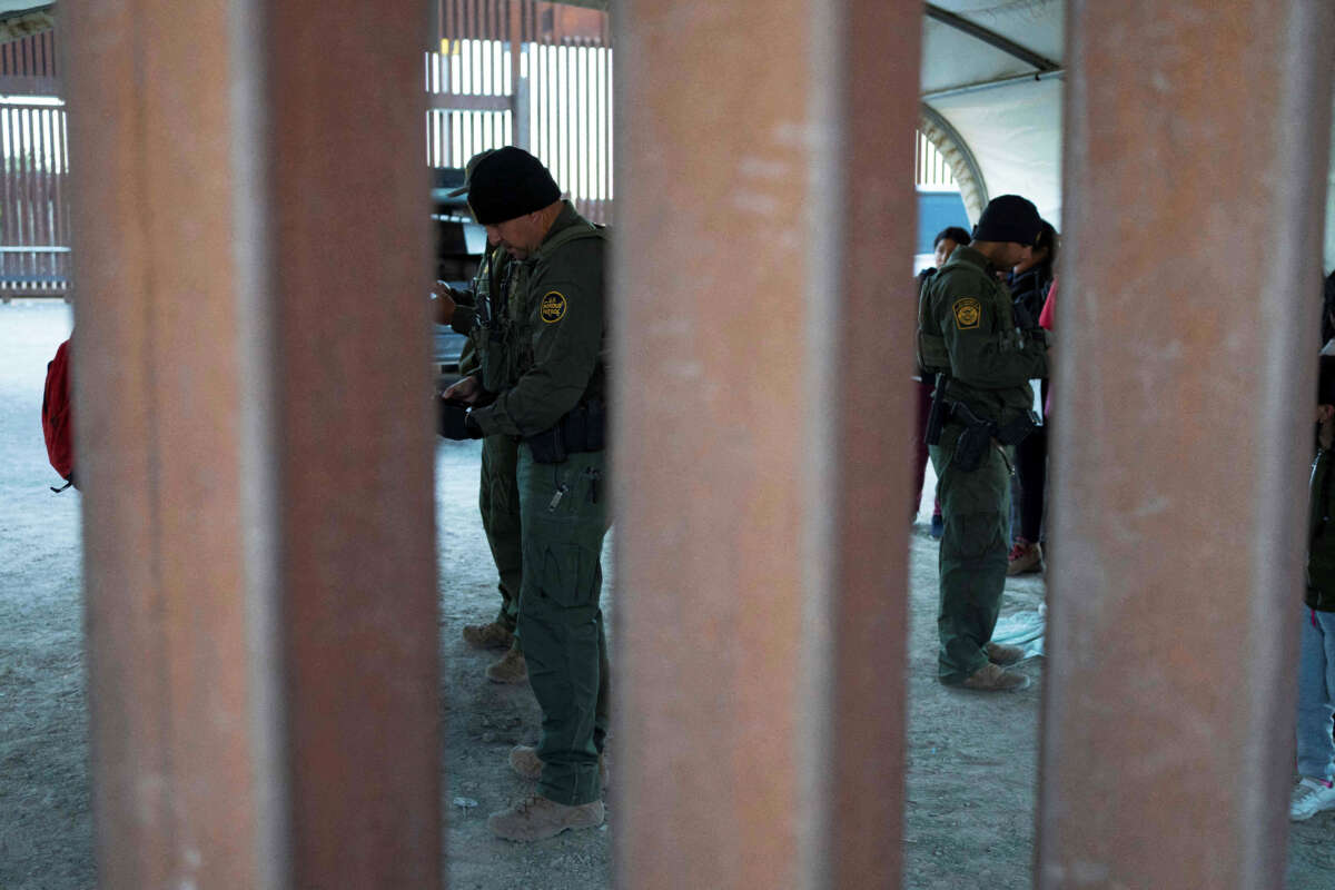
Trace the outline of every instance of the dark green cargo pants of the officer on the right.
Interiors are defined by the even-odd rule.
[[[945,516],[936,619],[937,675],[945,683],[960,683],[988,663],[983,646],[992,639],[1001,610],[1011,515],[1009,455],[993,443],[977,470],[961,471],[952,466],[952,458],[963,430],[957,423],[947,424],[941,443],[928,448]]]

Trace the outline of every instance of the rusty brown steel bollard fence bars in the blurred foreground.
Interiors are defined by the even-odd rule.
[[[387,7],[328,53],[310,21],[364,4],[290,0],[258,23],[227,4],[188,21],[104,5],[67,20],[85,61],[71,97],[108,111],[75,119],[80,272],[121,298],[79,322],[80,442],[101,446],[83,451],[99,881],[434,890],[430,416],[400,386],[421,372],[403,344],[423,314],[363,299],[421,275],[421,112],[356,113],[384,81],[415,84],[398,47],[417,17]],[[1335,8],[1164,7],[1085,0],[1065,25],[1081,113],[1065,133],[1040,890],[1283,883],[1299,614],[1282,596],[1302,584],[1316,340],[1299,310],[1319,280]],[[906,379],[886,344],[914,327],[910,220],[884,208],[910,195],[893,169],[920,111],[921,4],[634,8],[618,19],[614,496],[634,656],[617,679],[617,874],[639,890],[897,887],[908,572],[888,542],[906,535],[908,472],[886,468],[908,466],[912,404],[885,382]],[[218,104],[254,89],[232,41],[198,40],[242,25],[268,28],[260,61],[294,125],[263,127],[259,103],[248,120],[202,113],[180,80],[119,88],[147,64]],[[794,96],[812,99],[796,116]],[[752,131],[700,137],[744,103]],[[112,123],[135,113],[204,137]],[[1143,131],[1172,137],[1145,151],[1127,136]],[[290,175],[256,196],[226,163],[234,139]],[[350,189],[367,168],[386,187]],[[1169,179],[1181,169],[1196,175]],[[223,200],[187,207],[216,171]],[[154,239],[119,200],[129,175]],[[738,179],[746,201],[713,187]],[[312,201],[326,212],[300,212]],[[708,213],[713,231],[661,224]],[[232,262],[238,228],[276,248]],[[1276,262],[1239,263],[1252,244]],[[159,311],[200,280],[198,307]],[[247,302],[266,280],[284,299]],[[720,294],[745,299],[724,314]],[[673,384],[685,396],[662,398]]]

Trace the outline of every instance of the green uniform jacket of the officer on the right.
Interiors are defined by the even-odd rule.
[[[951,254],[924,286],[918,327],[926,368],[949,375],[948,399],[1003,426],[1033,407],[1029,380],[1048,376],[1048,351],[1016,331],[1011,294],[983,254]]]

